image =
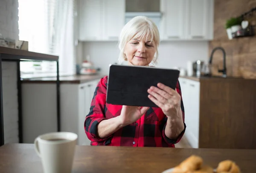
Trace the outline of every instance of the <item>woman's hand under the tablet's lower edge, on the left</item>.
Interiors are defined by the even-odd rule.
[[[146,111],[148,111],[148,109],[149,107],[123,105],[121,114],[119,116],[121,124],[126,126],[136,122]]]

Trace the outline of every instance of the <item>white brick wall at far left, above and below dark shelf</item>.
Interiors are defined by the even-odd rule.
[[[18,0],[0,0],[0,33],[3,37],[19,38]],[[4,140],[16,143],[19,142],[16,62],[2,62],[2,79]]]

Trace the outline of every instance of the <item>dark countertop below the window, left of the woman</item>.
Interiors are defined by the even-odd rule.
[[[101,79],[106,75],[103,74],[91,74],[91,75],[73,75],[73,76],[63,76],[60,77],[60,83],[74,83],[81,84],[85,82],[90,82],[95,79]],[[22,79],[22,83],[56,83],[56,77],[38,77],[38,78],[28,78]]]

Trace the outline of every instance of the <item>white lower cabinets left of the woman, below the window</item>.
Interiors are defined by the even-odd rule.
[[[77,145],[90,145],[84,120],[99,80],[60,85],[61,131],[78,134]],[[55,83],[22,84],[23,142],[33,143],[37,136],[57,131],[56,92]]]

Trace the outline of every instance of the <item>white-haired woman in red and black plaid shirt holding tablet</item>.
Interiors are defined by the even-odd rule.
[[[159,42],[155,23],[134,17],[122,28],[119,61],[149,66],[157,59]],[[159,106],[148,108],[106,103],[107,81],[103,77],[97,85],[84,122],[91,145],[175,147],[186,129],[179,82],[175,90],[162,83],[148,88],[148,98]]]

